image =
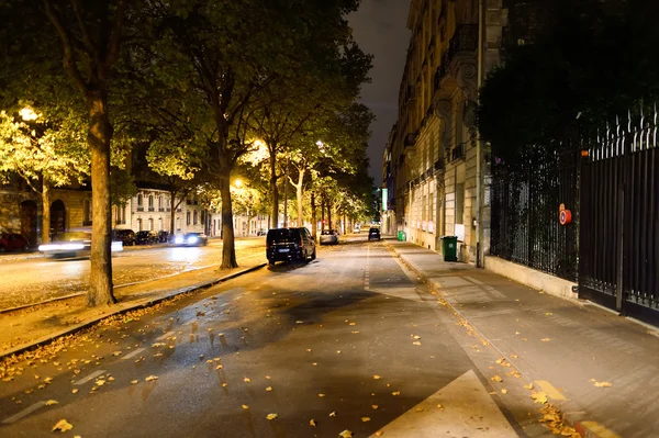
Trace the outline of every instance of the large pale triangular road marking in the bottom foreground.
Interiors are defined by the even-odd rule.
[[[444,411],[437,407],[439,404]],[[445,434],[470,438],[517,437],[473,370],[467,371],[380,430],[386,437],[396,438],[448,436]]]

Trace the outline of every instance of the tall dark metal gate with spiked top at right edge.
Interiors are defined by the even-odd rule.
[[[579,297],[659,318],[657,111],[629,116],[588,147],[580,187]]]

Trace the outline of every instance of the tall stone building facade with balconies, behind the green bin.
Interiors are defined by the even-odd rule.
[[[384,153],[390,232],[434,250],[442,236],[457,236],[468,262],[489,246],[489,160],[476,109],[479,81],[500,63],[505,19],[502,0],[411,1],[398,122]]]

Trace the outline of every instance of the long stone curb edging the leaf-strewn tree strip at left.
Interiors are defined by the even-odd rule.
[[[60,338],[60,337],[64,337],[64,336],[68,336],[68,335],[72,335],[72,334],[75,334],[77,332],[80,332],[80,330],[82,330],[85,328],[91,327],[91,326],[98,324],[99,322],[101,322],[101,321],[103,321],[105,318],[109,318],[111,316],[123,315],[124,313],[127,313],[127,312],[131,312],[131,311],[136,311],[136,310],[139,310],[139,308],[150,307],[150,306],[153,306],[155,304],[161,303],[163,301],[172,299],[172,297],[175,297],[177,295],[181,295],[183,293],[194,292],[194,291],[199,291],[199,290],[202,290],[202,289],[208,289],[208,288],[214,287],[215,284],[222,283],[224,281],[235,279],[237,277],[244,276],[244,274],[249,273],[252,271],[256,271],[256,270],[265,267],[267,263],[258,263],[256,266],[253,266],[252,268],[246,268],[246,269],[243,269],[241,271],[231,273],[228,276],[216,278],[214,280],[203,281],[201,283],[196,283],[196,284],[192,284],[192,285],[189,285],[189,287],[186,287],[186,288],[175,289],[174,291],[169,291],[165,295],[158,296],[158,297],[153,299],[153,300],[148,300],[148,301],[143,302],[143,303],[136,303],[136,304],[129,305],[126,307],[116,308],[115,311],[113,311],[113,312],[111,312],[111,313],[109,313],[107,315],[97,316],[94,318],[88,319],[88,321],[86,321],[83,323],[80,323],[78,325],[75,325],[72,327],[65,328],[65,329],[56,332],[54,334],[44,336],[41,339],[33,340],[31,342],[20,345],[20,346],[14,347],[14,348],[12,348],[10,350],[1,351],[0,352],[0,360],[4,359],[7,357],[10,357],[10,356],[15,356],[15,355],[20,355],[20,353],[25,352],[25,351],[33,350],[33,349],[35,349],[37,347],[41,347],[41,346],[45,345],[45,344],[49,344],[49,342],[52,342],[53,340],[55,340],[57,338]]]

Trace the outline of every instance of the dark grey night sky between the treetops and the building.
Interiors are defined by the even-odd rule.
[[[410,42],[409,9],[409,0],[362,0],[350,16],[357,44],[375,56],[372,82],[364,86],[361,100],[378,117],[368,145],[369,175],[376,187],[382,183],[382,154],[398,115],[398,91]]]

